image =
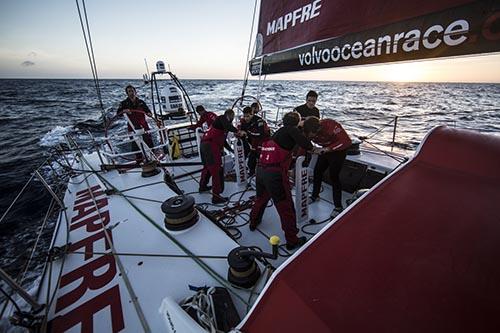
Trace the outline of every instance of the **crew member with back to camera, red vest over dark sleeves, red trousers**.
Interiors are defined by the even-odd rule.
[[[289,112],[283,117],[283,127],[262,144],[257,166],[256,199],[250,212],[250,230],[255,230],[262,221],[262,216],[269,199],[273,199],[285,233],[286,248],[293,250],[306,242],[306,237],[297,237],[295,207],[292,200],[288,169],[295,145],[311,150],[312,137],[319,128],[317,118],[304,122],[304,134],[298,129],[300,115]]]

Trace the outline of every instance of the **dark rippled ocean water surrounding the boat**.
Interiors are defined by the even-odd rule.
[[[112,114],[125,98],[124,87],[134,84],[151,106],[149,87],[141,81],[102,80],[104,106]],[[183,81],[195,105],[220,112],[241,95],[236,80]],[[258,96],[258,83],[247,94]],[[260,101],[269,119],[304,103],[308,90],[319,93],[323,116],[343,124],[351,136],[370,136],[369,142],[390,149],[394,117],[398,116],[396,149],[411,154],[434,126],[474,129],[500,135],[500,84],[374,83],[326,81],[267,81]],[[65,133],[89,130],[102,136],[101,109],[91,80],[0,80],[0,214],[50,154]],[[54,181],[49,168],[40,170]],[[17,276],[35,243],[50,196],[40,181],[30,183],[14,209],[0,222],[0,267]],[[50,243],[55,219],[42,235],[26,284],[41,270],[43,249]]]

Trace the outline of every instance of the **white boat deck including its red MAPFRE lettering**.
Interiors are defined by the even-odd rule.
[[[370,158],[388,159],[388,169],[391,163],[396,164],[387,156],[375,154]],[[186,161],[199,160],[195,157],[180,162]],[[200,214],[194,226],[173,232],[164,226],[161,204],[176,194],[165,184],[163,171],[149,178],[143,178],[140,169],[102,172],[96,153],[84,155],[75,169],[86,172],[68,185],[67,209],[61,214],[53,243],[66,255],[52,261],[40,294],[43,303],[50,303],[48,317],[54,331],[76,330],[79,325],[97,321],[95,325],[102,331],[162,330],[166,325],[165,316],[159,313],[162,302],[166,298],[181,302],[193,295],[191,286],[227,288],[243,318],[272,271],[259,262],[263,274],[252,290],[232,286],[227,281],[228,253],[240,245],[270,253],[269,237],[277,235],[282,240],[279,256],[268,259],[269,264],[277,268],[293,255],[294,251],[284,246],[272,201],[258,229],[249,230],[251,198],[255,195],[252,180],[248,186],[226,181],[223,195],[230,197],[230,202],[213,205],[210,192],[198,193],[200,165],[169,168],[179,188],[194,197],[199,211],[220,217],[217,225],[213,218]],[[334,222],[330,218],[330,185],[323,185],[320,196],[321,200],[309,206],[309,217],[319,223],[298,225],[299,235],[308,239]],[[350,197],[350,193],[343,195],[344,201]],[[64,250],[65,245],[68,247]],[[104,308],[107,310],[101,311]]]

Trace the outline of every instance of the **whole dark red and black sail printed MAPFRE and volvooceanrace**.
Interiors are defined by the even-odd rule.
[[[500,51],[498,0],[262,0],[252,75]]]

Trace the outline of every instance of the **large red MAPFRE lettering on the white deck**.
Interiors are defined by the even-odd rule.
[[[98,185],[76,193],[69,225],[73,242],[68,252],[78,252],[74,254],[78,257],[72,258],[77,267],[61,276],[50,332],[65,332],[76,325],[81,332],[94,332],[98,312],[100,318],[102,313],[109,318],[112,332],[125,328],[115,257],[110,255],[113,237],[111,230],[105,229],[110,222],[107,206],[108,199]],[[84,300],[89,294],[95,296]]]

